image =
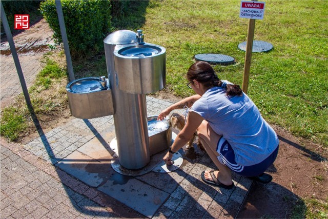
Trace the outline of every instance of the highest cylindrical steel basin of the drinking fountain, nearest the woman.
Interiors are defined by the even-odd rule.
[[[132,94],[159,91],[166,84],[166,49],[134,44],[114,50],[118,89]]]

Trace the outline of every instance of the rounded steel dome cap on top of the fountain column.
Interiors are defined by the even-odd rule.
[[[117,30],[104,39],[105,44],[111,45],[132,44],[136,42],[136,33],[131,30]]]

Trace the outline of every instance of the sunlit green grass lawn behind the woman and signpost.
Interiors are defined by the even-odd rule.
[[[186,97],[186,72],[194,55],[232,56],[233,66],[215,66],[220,79],[242,84],[249,19],[239,18],[240,1],[151,1],[145,42],[167,49],[167,87]],[[266,1],[254,39],[274,49],[253,53],[248,95],[265,119],[296,136],[328,147],[328,37],[326,1]],[[132,19],[135,19],[134,17]],[[133,22],[130,22],[133,24]],[[129,29],[129,26],[126,27]],[[131,27],[133,28],[133,26]]]

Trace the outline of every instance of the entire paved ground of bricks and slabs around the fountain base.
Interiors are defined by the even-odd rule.
[[[148,115],[172,104],[146,99]],[[26,145],[2,139],[2,215],[231,218],[237,215],[252,185],[238,175],[233,175],[236,186],[232,190],[203,183],[200,173],[216,167],[196,146],[179,150],[183,163],[174,172],[121,175],[111,167],[117,160],[110,148],[114,137],[113,116],[105,116],[90,120],[71,117]],[[50,208],[50,203],[56,205]],[[56,207],[58,204],[61,207]]]

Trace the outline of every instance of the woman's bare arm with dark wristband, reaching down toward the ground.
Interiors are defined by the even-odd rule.
[[[176,136],[172,146],[171,151],[177,152],[180,148],[187,144],[187,142],[191,139],[195,131],[197,130],[198,126],[200,126],[201,122],[204,120],[198,113],[190,111],[187,124],[185,127],[178,133]],[[173,154],[168,152],[164,157],[163,160],[166,163],[170,163]]]

